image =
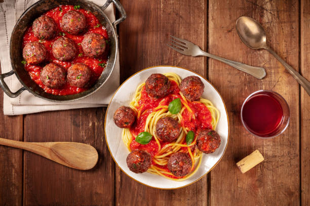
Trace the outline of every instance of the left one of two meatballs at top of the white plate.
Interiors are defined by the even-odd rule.
[[[169,93],[170,81],[163,74],[151,74],[145,81],[145,91],[151,97],[161,98]]]

